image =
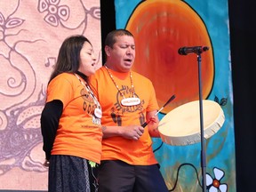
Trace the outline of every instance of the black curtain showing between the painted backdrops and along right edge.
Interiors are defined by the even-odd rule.
[[[100,0],[100,9],[103,45],[108,32],[116,28],[114,0]],[[253,57],[256,55],[256,3],[252,0],[229,0],[228,12],[234,92],[236,191],[251,192],[255,191],[256,180],[256,126],[253,119],[256,116],[253,97],[256,89],[256,62]],[[102,60],[104,63],[104,57]]]

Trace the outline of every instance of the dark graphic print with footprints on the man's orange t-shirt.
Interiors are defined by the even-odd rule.
[[[133,90],[127,85],[122,85],[120,89],[125,98],[132,98]],[[120,92],[116,92],[116,103],[113,108],[111,108],[111,117],[113,122],[115,122],[118,126],[122,126],[122,116],[125,113],[134,113],[135,111],[139,111],[139,120],[140,124],[145,122],[145,116],[143,114],[143,104],[144,100],[140,101],[140,104],[134,106],[123,106],[121,100],[124,99],[123,95]],[[134,92],[134,98],[140,97]]]

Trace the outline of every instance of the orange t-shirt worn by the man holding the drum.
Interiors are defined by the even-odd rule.
[[[120,74],[111,69],[108,70],[121,92],[123,92],[124,97],[132,98],[130,73]],[[90,84],[92,91],[100,101],[102,125],[143,124],[146,121],[146,112],[158,109],[153,84],[148,78],[136,72],[132,72],[135,97],[140,98],[140,104],[136,106],[122,106],[121,100],[124,98],[117,91],[105,67],[98,69],[93,76],[90,76]],[[119,136],[102,140],[101,160],[116,159],[135,165],[157,164],[147,126],[140,140],[129,140]]]

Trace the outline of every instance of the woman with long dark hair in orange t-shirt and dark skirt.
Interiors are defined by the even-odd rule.
[[[95,71],[90,41],[68,37],[60,47],[41,116],[49,192],[98,191],[101,108],[87,84]]]

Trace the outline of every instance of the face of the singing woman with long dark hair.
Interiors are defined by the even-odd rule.
[[[84,42],[83,48],[80,52],[80,63],[78,71],[85,76],[91,76],[96,71],[96,57],[93,52],[92,45]]]

